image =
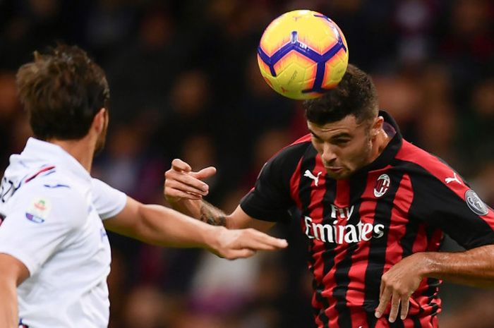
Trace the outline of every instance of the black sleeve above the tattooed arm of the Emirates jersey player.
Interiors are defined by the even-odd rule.
[[[260,171],[254,188],[245,195],[240,206],[254,219],[287,221],[294,207],[290,179],[307,147],[306,143],[291,145],[272,157]]]

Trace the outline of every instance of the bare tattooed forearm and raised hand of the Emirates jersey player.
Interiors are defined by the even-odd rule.
[[[274,222],[250,217],[240,206],[229,215],[203,200],[209,186],[203,181],[216,174],[212,166],[194,172],[191,166],[181,159],[174,159],[171,168],[164,174],[164,197],[174,209],[213,226],[226,226],[228,229],[253,228],[268,231]]]

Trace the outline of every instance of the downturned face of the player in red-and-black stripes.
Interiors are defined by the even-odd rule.
[[[353,115],[323,126],[307,122],[312,144],[323,159],[328,176],[337,180],[348,178],[378,156],[375,135],[382,121],[375,122],[357,123]]]

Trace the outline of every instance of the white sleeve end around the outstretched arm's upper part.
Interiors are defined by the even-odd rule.
[[[92,179],[92,203],[101,219],[119,214],[127,203],[127,195],[97,178]]]

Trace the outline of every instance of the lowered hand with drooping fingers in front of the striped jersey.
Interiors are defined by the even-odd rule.
[[[410,296],[421,283],[421,267],[423,267],[423,253],[415,253],[405,257],[382,275],[379,305],[375,310],[375,317],[381,317],[391,301],[390,322],[396,320],[398,311],[402,320],[409,310]]]

